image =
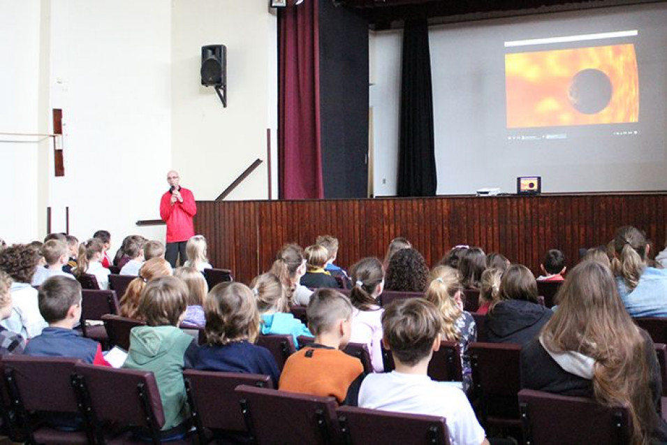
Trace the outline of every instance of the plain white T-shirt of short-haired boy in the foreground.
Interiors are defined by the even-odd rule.
[[[463,391],[427,375],[369,374],[359,390],[359,406],[444,417],[452,445],[480,445],[485,438]]]

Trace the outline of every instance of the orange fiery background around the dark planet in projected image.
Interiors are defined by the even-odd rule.
[[[613,93],[603,110],[584,114],[568,99],[576,73],[606,73]],[[634,45],[505,54],[507,127],[617,124],[639,120],[639,75]]]

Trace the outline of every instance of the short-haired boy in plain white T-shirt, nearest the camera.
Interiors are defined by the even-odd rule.
[[[437,308],[422,298],[395,300],[385,308],[382,328],[396,369],[367,375],[359,391],[359,406],[442,416],[453,444],[488,445],[463,391],[427,375],[433,351],[440,347],[442,326]]]

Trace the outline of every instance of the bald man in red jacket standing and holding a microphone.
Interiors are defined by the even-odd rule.
[[[179,185],[178,172],[167,173],[169,190],[162,195],[160,201],[160,217],[167,223],[167,246],[164,257],[173,268],[180,254],[180,264],[188,259],[185,245],[194,236],[195,229],[192,218],[197,214],[195,197],[188,189]]]

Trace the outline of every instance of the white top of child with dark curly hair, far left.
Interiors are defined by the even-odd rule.
[[[12,314],[2,321],[2,326],[25,339],[40,335],[48,323],[39,312],[37,289],[27,283],[14,283],[11,292]]]

